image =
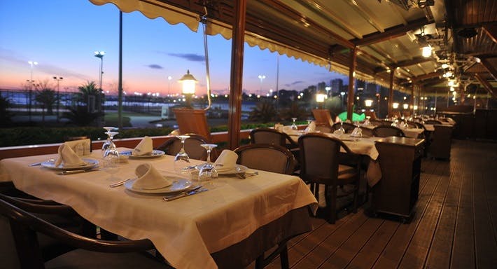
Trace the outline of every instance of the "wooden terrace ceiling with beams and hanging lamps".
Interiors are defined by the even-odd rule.
[[[226,25],[234,23],[232,0],[140,0],[160,2]],[[430,1],[427,1],[430,2]],[[407,3],[409,6],[399,3]],[[414,81],[426,90],[447,88],[442,64],[463,81],[497,97],[497,1],[435,0],[248,0],[246,31],[348,68],[356,48],[357,70],[398,88]],[[421,57],[428,42],[433,57]]]

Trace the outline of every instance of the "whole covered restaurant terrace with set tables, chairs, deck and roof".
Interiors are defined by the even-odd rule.
[[[0,148],[0,268],[497,266],[496,1],[90,2],[231,39],[228,130],[187,105],[165,136]],[[244,43],[348,75],[344,120],[242,130]],[[386,117],[354,120],[356,79]]]

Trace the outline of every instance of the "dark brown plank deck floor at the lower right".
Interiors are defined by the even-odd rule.
[[[367,204],[288,244],[291,268],[497,268],[497,144],[456,140],[451,160],[423,160],[410,223]],[[280,268],[279,258],[267,268]]]

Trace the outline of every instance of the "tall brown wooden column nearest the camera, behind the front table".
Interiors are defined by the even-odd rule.
[[[228,147],[236,149],[240,142],[241,83],[244,68],[246,0],[235,1],[235,22],[231,46],[230,99],[228,107]]]

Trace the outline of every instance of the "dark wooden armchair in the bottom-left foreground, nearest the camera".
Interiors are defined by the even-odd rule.
[[[154,249],[148,239],[108,241],[71,233],[55,226],[31,212],[44,214],[71,214],[65,205],[33,205],[12,200],[0,194],[0,215],[10,221],[15,249],[22,269],[32,268],[167,268],[167,264],[144,256]],[[70,244],[75,249],[66,254],[43,261],[36,233],[43,233],[55,240]]]

